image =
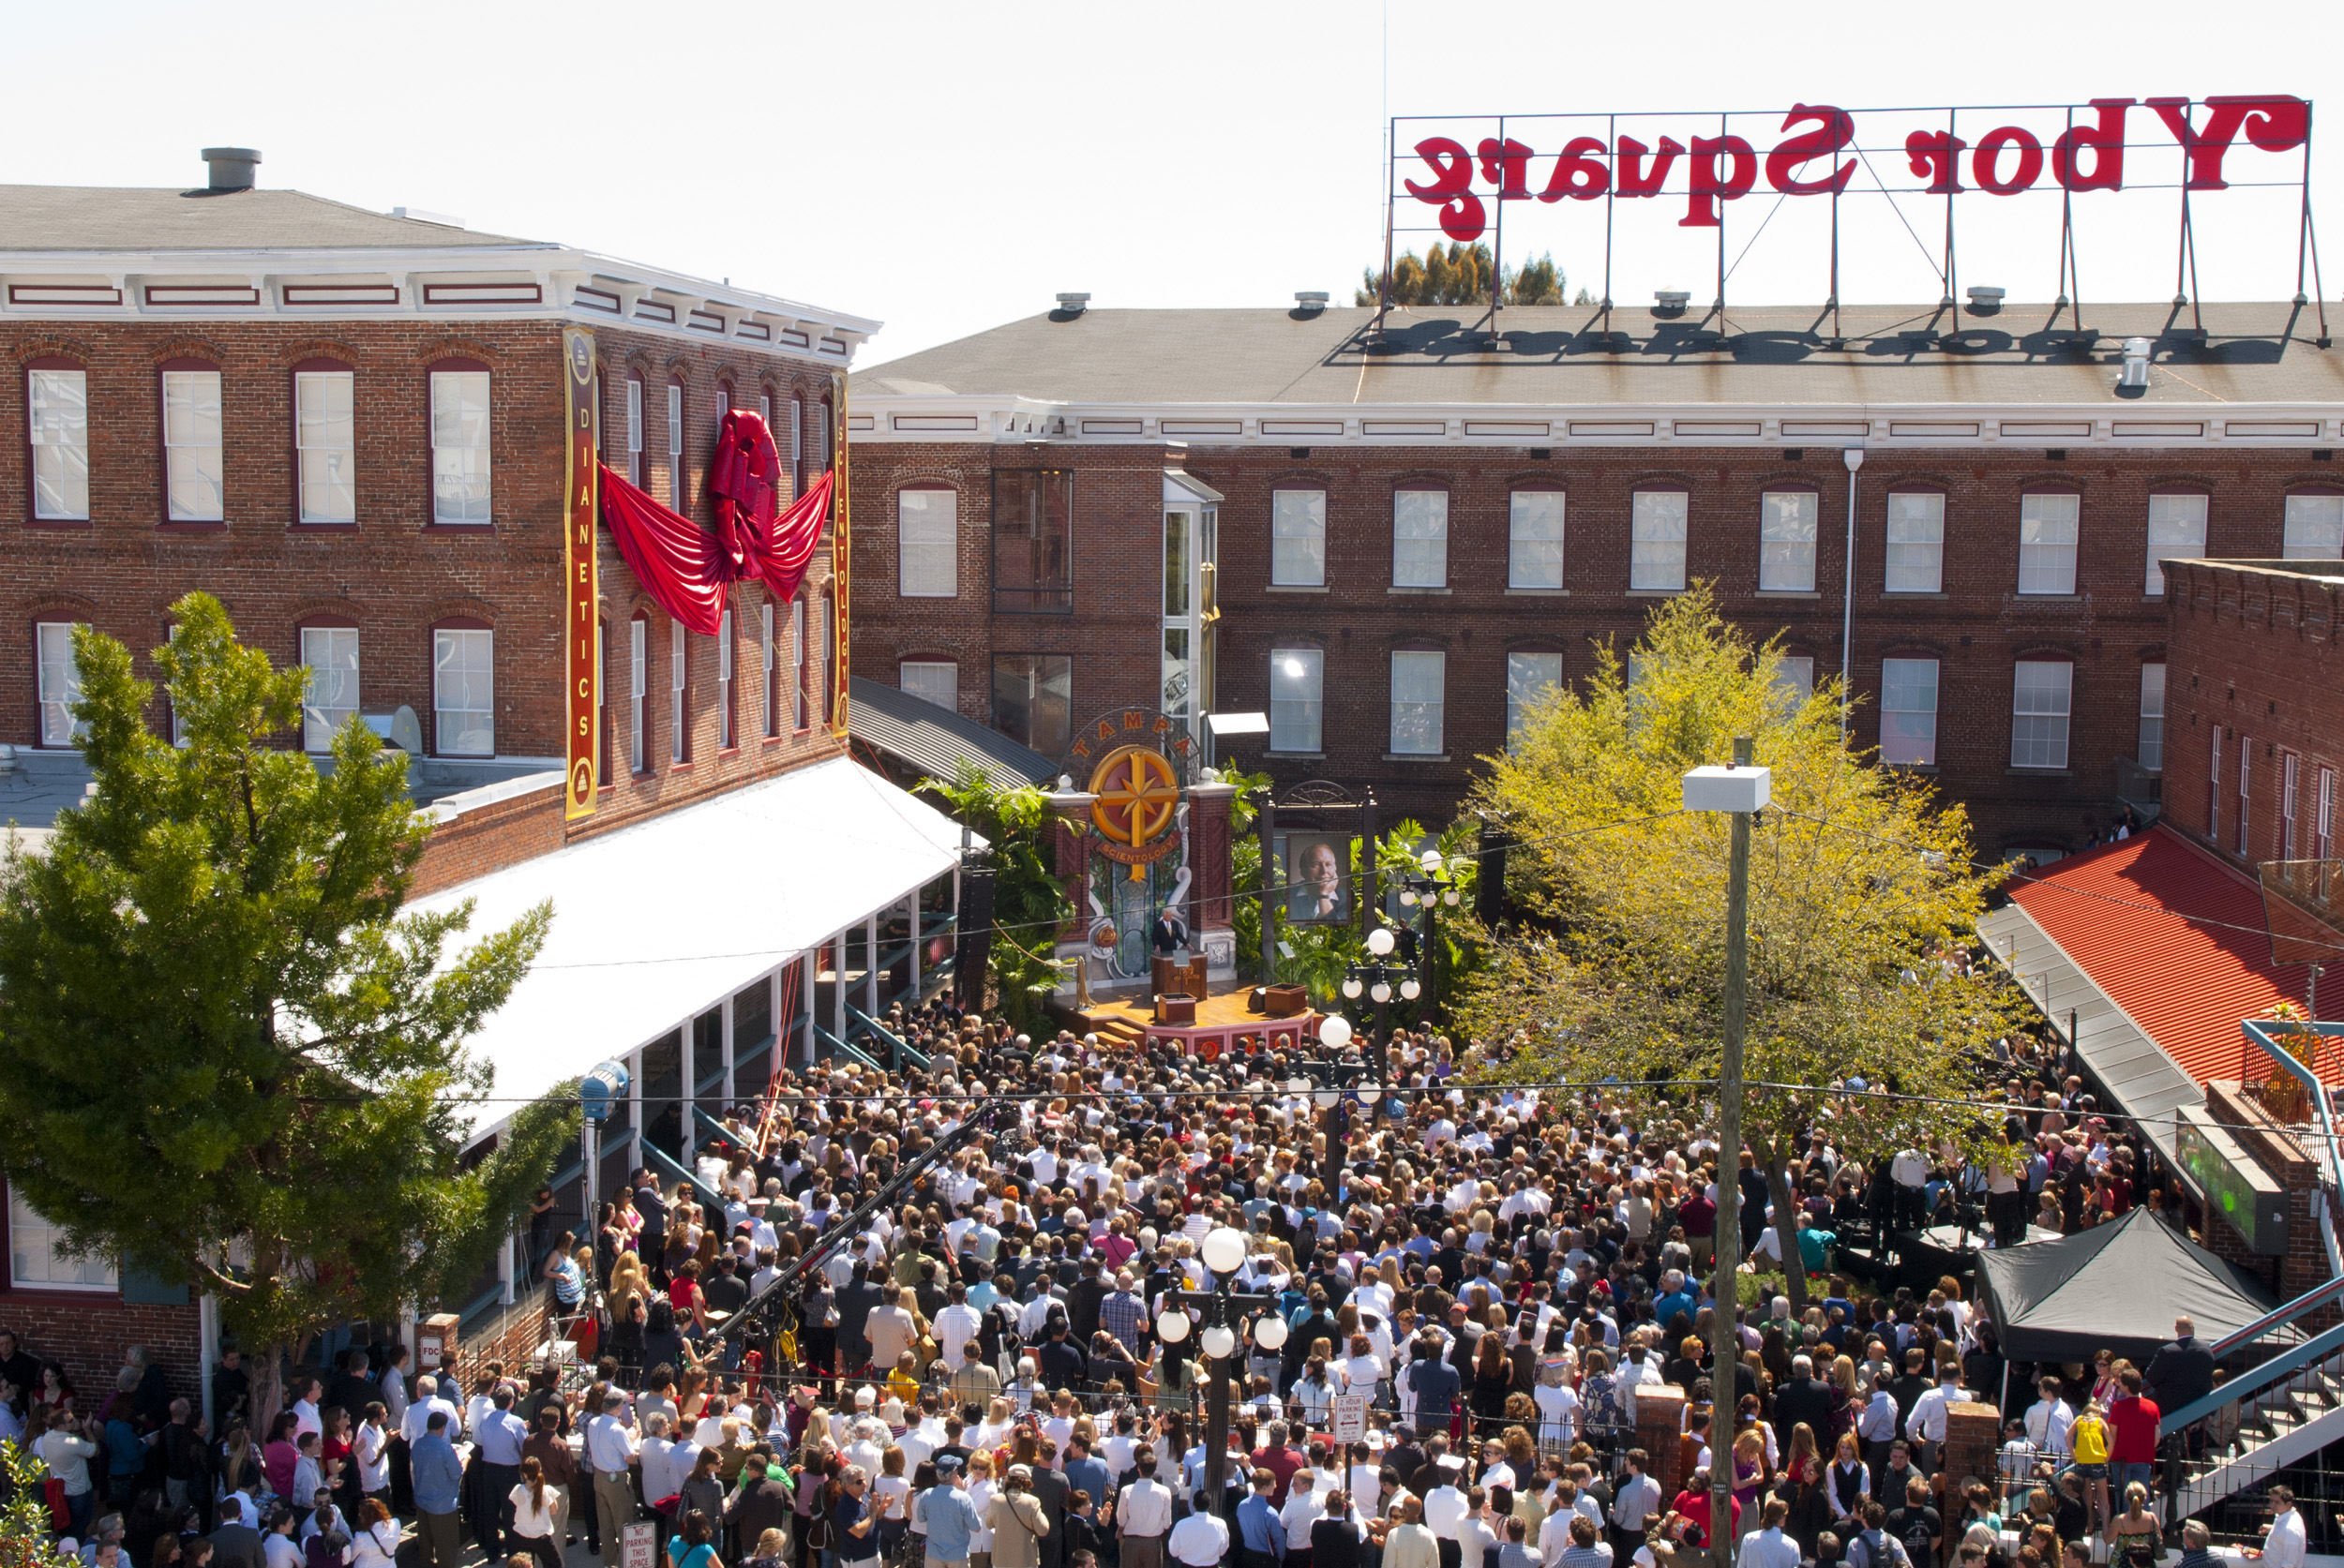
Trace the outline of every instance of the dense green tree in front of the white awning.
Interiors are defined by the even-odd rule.
[[[476,1167],[464,1038],[544,945],[551,907],[464,952],[471,905],[398,914],[429,837],[406,755],[352,717],[333,766],[281,738],[307,673],[190,593],[155,689],[82,626],[73,705],[96,792],[0,867],[0,1172],[80,1256],[220,1298],[253,1409],[312,1329],[469,1287],[574,1132],[558,1097]],[[560,1095],[560,1092],[556,1092]]]

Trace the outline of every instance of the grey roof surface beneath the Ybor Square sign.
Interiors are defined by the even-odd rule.
[[[2201,314],[2199,314],[2201,312]],[[2323,349],[2311,307],[2086,305],[2072,314],[1910,305],[1728,309],[1655,316],[1507,307],[1505,349],[1477,307],[1085,309],[1010,321],[853,377],[872,396],[1027,396],[1067,403],[1601,405],[1601,403],[2344,403],[2344,347]],[[2203,319],[2203,335],[2199,335]],[[1838,333],[1838,338],[1835,338]],[[2114,398],[2126,338],[2147,338],[2149,387]]]

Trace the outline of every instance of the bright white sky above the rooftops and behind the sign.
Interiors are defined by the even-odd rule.
[[[253,145],[263,185],[448,211],[879,316],[860,361],[879,363],[1048,309],[1067,288],[1099,307],[1289,305],[1299,288],[1350,302],[1383,246],[1385,113],[2309,98],[2344,45],[2344,7],[1395,5],[1385,23],[1374,0],[251,0],[16,7],[9,42],[19,131],[0,183],[185,188],[202,183],[199,148]],[[2330,108],[2344,127],[2337,115],[2344,101]],[[1735,129],[1763,157],[1774,124]],[[2166,141],[2149,110],[2131,136]],[[1526,141],[1554,152],[1561,138]],[[2135,150],[2159,180],[2178,157]],[[2297,159],[2241,138],[2227,171],[2292,178]],[[1533,164],[1533,190],[1549,162]],[[2335,300],[2344,143],[2311,169]],[[1671,188],[1683,180],[1681,164]],[[1728,209],[1730,258],[1772,206],[1760,178]],[[1936,248],[1943,202],[1903,206]],[[1573,288],[1601,291],[1601,211],[1507,204],[1507,260],[1552,248]],[[1957,211],[1964,286],[2053,293],[2056,197],[1969,195]],[[2175,211],[2173,192],[2079,199],[2086,302],[2171,295]],[[1620,204],[1615,300],[1643,305],[1657,286],[1709,298],[1716,232],[1676,227],[1681,213],[1683,197]],[[2199,197],[2203,295],[2292,293],[2292,190]],[[1819,302],[1826,216],[1828,202],[1784,202],[1730,298]],[[1882,197],[1842,204],[1842,300],[1936,288]]]

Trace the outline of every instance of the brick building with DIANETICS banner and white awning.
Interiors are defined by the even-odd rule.
[[[879,323],[452,218],[263,190],[253,152],[206,159],[209,183],[185,192],[0,188],[0,347],[14,363],[0,427],[21,443],[0,464],[0,516],[14,518],[0,813],[38,825],[80,797],[73,623],[145,663],[169,605],[216,593],[246,642],[314,673],[288,748],[323,750],[356,713],[413,752],[415,795],[438,818],[422,907],[478,895],[483,930],[560,888],[541,968],[509,1013],[544,1027],[558,994],[584,1015],[534,1038],[502,1015],[483,1031],[499,1102],[476,1137],[516,1099],[614,1057],[638,1083],[616,1151],[640,1160],[666,1137],[661,1153],[689,1163],[694,1097],[762,1088],[816,1001],[844,1024],[856,977],[874,1003],[886,930],[921,949],[912,921],[949,900],[956,830],[846,759],[830,548],[795,602],[736,584],[724,633],[706,638],[640,588],[607,527],[600,788],[591,816],[565,820],[563,333],[593,335],[602,459],[708,523],[724,410],[769,417],[788,490],[802,490],[832,462],[844,368]],[[162,696],[155,724],[169,724]],[[839,813],[827,832],[825,813]],[[738,900],[703,900],[696,879],[612,870],[640,865],[654,830],[668,865],[673,844],[759,844],[764,860],[731,858],[762,879],[743,891],[764,900],[755,940],[738,935]],[[823,855],[837,846],[870,853],[834,867]],[[635,968],[595,968],[621,961]],[[563,1188],[572,1214],[577,1179]],[[0,1322],[63,1315],[101,1341],[157,1336],[136,1317],[152,1296],[188,1317],[192,1359],[183,1287],[56,1259],[38,1214],[12,1205],[9,1219]]]

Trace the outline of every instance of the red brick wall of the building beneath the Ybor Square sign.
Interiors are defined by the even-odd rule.
[[[1059,621],[1050,652],[1076,654],[1074,708],[1153,701],[1160,502],[1144,483],[1165,450],[1149,445],[914,445],[856,448],[863,518],[856,570],[856,642],[865,675],[886,680],[898,659],[961,661],[961,713],[987,720],[982,675],[992,649],[1038,649],[1041,616],[989,612],[989,476],[994,469],[1076,469],[1076,614]],[[1817,675],[1840,663],[1840,593],[1847,473],[1835,450],[1613,450],[1533,457],[1528,448],[1472,450],[1193,448],[1181,459],[1221,490],[1217,708],[1268,705],[1268,649],[1289,638],[1327,647],[1327,752],[1268,759],[1280,783],[1308,776],[1371,783],[1385,806],[1446,820],[1472,757],[1505,745],[1505,659],[1512,649],[1563,654],[1566,680],[1594,668],[1592,640],[1624,647],[1653,607],[1629,595],[1629,495],[1683,488],[1690,497],[1688,574],[1718,584],[1730,616],[1760,635],[1784,633],[1786,652],[1810,654]],[[1123,483],[1102,483],[1123,469]],[[1088,483],[1085,483],[1088,480]],[[1449,502],[1446,595],[1390,593],[1390,492],[1402,480],[1444,480]],[[956,600],[898,600],[895,490],[949,483],[961,492]],[[1510,595],[1507,492],[1561,483],[1568,492],[1566,584],[1570,593]],[[2147,497],[2161,488],[2210,492],[2208,551],[2276,555],[2290,488],[2335,483],[2306,452],[2084,452],[2049,459],[2042,448],[1988,452],[1875,450],[1856,506],[1854,663],[1863,705],[1856,741],[1880,736],[1878,680],[1885,656],[1941,661],[1938,783],[1969,804],[1988,851],[2023,844],[2079,846],[2117,813],[2117,757],[2138,748],[2140,663],[2166,645],[2166,607],[2142,593]],[[1270,490],[1327,492],[1329,593],[1268,591]],[[1819,492],[1817,595],[1758,595],[1758,497],[1767,488]],[[1885,595],[1889,490],[1936,488],[1946,502],[1946,593]],[[2018,595],[2018,497],[2037,488],[2081,490],[2077,595]],[[1444,647],[1446,764],[1385,762],[1390,652]],[[2021,656],[2077,661],[2070,766],[2018,773],[2011,752],[2011,666]],[[2171,705],[2171,698],[2168,698]],[[2182,720],[2187,724],[2187,720]],[[2168,745],[2173,720],[2168,720]],[[1231,750],[1261,766],[1261,743]],[[2171,769],[2168,769],[2171,776]]]

